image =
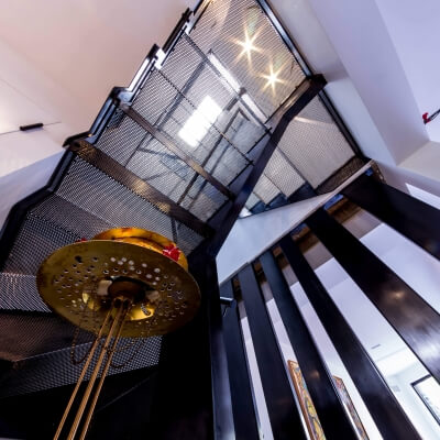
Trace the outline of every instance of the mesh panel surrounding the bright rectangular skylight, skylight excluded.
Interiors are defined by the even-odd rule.
[[[248,164],[244,154],[262,135],[264,128],[252,122],[233,124],[235,114],[230,111],[237,107],[238,97],[224,87],[209,62],[197,51],[197,46],[186,35],[176,44],[162,70],[154,70],[136,97],[133,108],[150,123],[166,133],[178,147],[210,172],[211,154],[219,145],[227,151],[229,161],[221,161],[213,173],[223,185],[228,185]],[[210,97],[222,110],[217,121],[196,146],[188,145],[179,132],[200,103]],[[197,110],[204,114],[200,110]],[[243,114],[246,110],[242,109]],[[234,139],[243,140],[240,147]]]

